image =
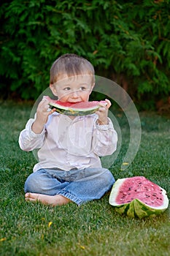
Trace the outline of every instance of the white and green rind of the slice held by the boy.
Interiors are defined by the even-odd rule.
[[[55,111],[66,116],[86,116],[96,112],[100,106],[96,105],[94,107],[84,109],[84,108],[69,108],[63,107],[53,102],[49,102],[50,108],[55,108]]]

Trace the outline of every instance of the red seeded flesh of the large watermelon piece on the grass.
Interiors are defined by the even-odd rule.
[[[157,184],[148,181],[144,177],[127,178],[120,187],[120,193],[116,197],[116,203],[129,203],[139,199],[148,206],[161,206],[163,203],[163,189]]]

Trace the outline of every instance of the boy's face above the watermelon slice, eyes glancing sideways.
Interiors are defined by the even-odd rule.
[[[61,102],[86,102],[93,86],[91,75],[60,75],[58,82],[50,85],[50,89]]]

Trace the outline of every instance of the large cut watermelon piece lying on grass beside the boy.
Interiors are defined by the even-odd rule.
[[[115,211],[128,217],[155,217],[169,206],[166,190],[143,176],[117,179],[109,196]]]

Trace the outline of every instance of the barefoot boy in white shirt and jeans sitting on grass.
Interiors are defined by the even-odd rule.
[[[92,64],[75,54],[61,56],[50,69],[50,89],[61,102],[88,101],[94,84]],[[49,111],[46,99],[39,102],[35,118],[19,137],[24,151],[39,148],[39,162],[26,179],[26,200],[80,206],[112,187],[115,179],[99,159],[117,147],[117,133],[107,117],[111,103],[106,102],[88,116],[65,116]]]

